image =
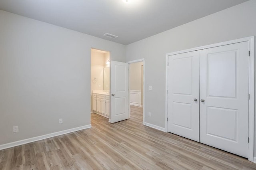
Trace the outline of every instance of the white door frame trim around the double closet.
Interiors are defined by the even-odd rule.
[[[218,47],[218,46],[223,46],[223,45],[228,45],[228,44],[233,44],[233,43],[240,43],[240,42],[249,42],[249,51],[248,56],[249,57],[249,94],[250,94],[250,99],[249,99],[249,127],[248,127],[248,137],[250,138],[250,142],[248,144],[248,160],[251,162],[254,161],[254,70],[255,70],[255,36],[250,36],[246,38],[240,38],[236,40],[231,40],[231,41],[226,41],[226,42],[220,42],[220,43],[214,43],[210,45],[204,45],[201,47],[195,47],[191,49],[185,49],[181,51],[176,51],[172,53],[166,53],[166,84],[165,84],[165,89],[166,89],[166,94],[165,94],[165,131],[168,132],[168,57],[170,55],[175,55],[175,54],[180,54],[180,53],[186,53],[190,51],[196,51],[196,50],[201,50],[201,49],[206,49],[206,48],[212,48],[212,47]]]

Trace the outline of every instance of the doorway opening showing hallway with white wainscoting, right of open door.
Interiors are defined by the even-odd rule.
[[[128,63],[130,117],[144,125],[144,59]]]

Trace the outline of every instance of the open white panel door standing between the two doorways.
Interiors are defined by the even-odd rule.
[[[128,63],[110,62],[110,94],[110,123],[129,119]]]

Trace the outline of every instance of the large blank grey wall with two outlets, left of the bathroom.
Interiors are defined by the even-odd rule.
[[[126,61],[124,45],[0,10],[0,145],[90,124],[91,47]]]

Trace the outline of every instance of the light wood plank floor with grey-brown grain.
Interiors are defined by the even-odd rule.
[[[256,169],[245,158],[142,125],[142,107],[110,124],[92,114],[92,128],[0,151],[0,170]]]

